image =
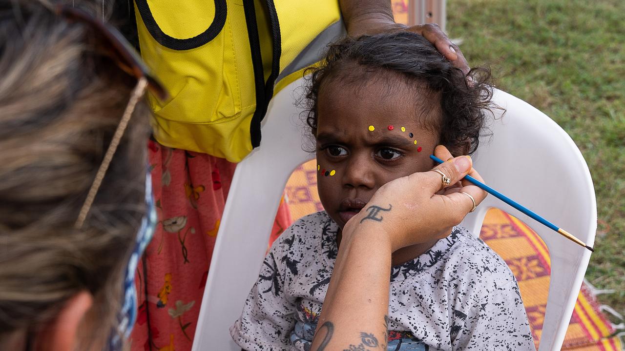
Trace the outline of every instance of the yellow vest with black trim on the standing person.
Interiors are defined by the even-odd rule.
[[[148,93],[154,137],[231,162],[260,145],[269,99],[344,33],[337,0],[136,0],[135,6],[141,56],[171,94],[159,101]]]

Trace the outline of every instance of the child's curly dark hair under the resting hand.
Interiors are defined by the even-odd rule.
[[[465,76],[431,42],[412,32],[347,37],[329,46],[321,66],[306,73],[311,74],[306,92],[306,123],[312,134],[317,129],[319,89],[329,81],[352,84],[384,79],[392,89],[393,80],[399,78],[416,87],[411,93],[417,99],[427,89],[426,96],[436,99],[430,106],[421,106],[422,114],[432,110],[440,113],[426,122],[426,127],[431,127],[439,135],[439,143],[454,155],[476,151],[486,113],[500,108],[491,102],[489,69],[473,68]],[[435,105],[438,100],[440,106]]]

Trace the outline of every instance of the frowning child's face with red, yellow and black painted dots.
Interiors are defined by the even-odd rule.
[[[357,87],[328,82],[319,91],[317,188],[341,229],[379,187],[434,166],[429,155],[438,138],[417,122],[419,102],[401,94],[409,91],[405,84],[392,91],[383,81]]]

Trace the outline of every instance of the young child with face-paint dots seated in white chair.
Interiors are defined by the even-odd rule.
[[[409,32],[330,47],[307,94],[325,210],[297,220],[272,245],[231,327],[238,345],[310,349],[342,227],[382,185],[432,169],[437,145],[455,156],[477,149],[492,96],[487,73],[474,69],[467,84]],[[462,227],[394,252],[390,279],[388,350],[534,350],[514,276]]]

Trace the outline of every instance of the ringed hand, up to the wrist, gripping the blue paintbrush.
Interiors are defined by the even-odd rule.
[[[346,224],[343,235],[356,224],[359,227],[369,224],[376,230],[387,232],[393,250],[449,235],[452,227],[459,224],[487,194],[458,177],[469,174],[482,180],[472,169],[471,157],[452,158],[444,146],[437,146],[434,154],[449,161],[436,166],[436,171],[414,173],[380,187],[357,218]],[[445,183],[445,178],[450,181]],[[458,180],[451,181],[454,179]],[[404,193],[406,196],[398,196]],[[381,217],[394,224],[384,225],[378,220]]]

